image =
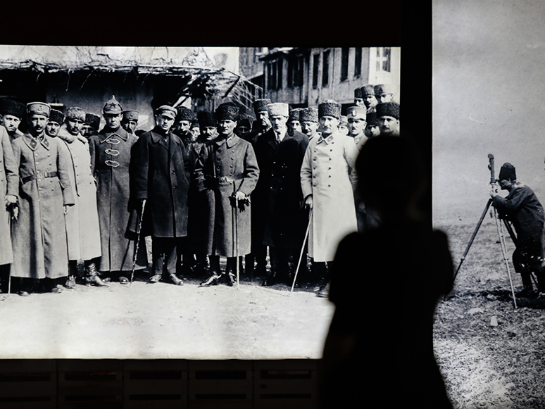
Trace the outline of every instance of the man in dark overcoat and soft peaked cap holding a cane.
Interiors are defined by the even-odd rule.
[[[135,201],[146,200],[142,234],[150,234],[152,239],[154,275],[150,282],[159,282],[168,275],[170,282],[182,285],[176,265],[182,253],[182,238],[187,236],[190,173],[182,139],[170,132],[176,113],[172,106],[156,109],[156,127],[140,135],[134,145],[131,184]]]

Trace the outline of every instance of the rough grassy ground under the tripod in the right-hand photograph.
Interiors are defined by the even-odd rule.
[[[442,228],[455,269],[476,222]],[[516,292],[522,280],[511,263],[515,247],[506,241]],[[496,225],[487,216],[453,291],[437,307],[434,348],[454,408],[545,408],[545,298],[516,301],[518,308]]]

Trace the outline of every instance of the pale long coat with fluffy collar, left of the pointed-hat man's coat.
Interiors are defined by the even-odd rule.
[[[92,260],[101,256],[99,213],[96,208],[96,182],[91,174],[89,143],[61,127],[57,134],[61,149],[68,156],[68,176],[75,205],[65,215],[68,260]]]

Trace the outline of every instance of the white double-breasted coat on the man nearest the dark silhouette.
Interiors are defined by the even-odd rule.
[[[313,196],[313,220],[308,232],[308,256],[333,261],[339,242],[356,232],[354,164],[358,148],[351,137],[333,132],[311,139],[301,166],[303,197]]]

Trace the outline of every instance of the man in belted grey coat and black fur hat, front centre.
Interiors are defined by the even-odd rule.
[[[204,287],[218,284],[220,256],[227,257],[227,284],[234,283],[237,257],[250,253],[251,211],[249,196],[259,177],[256,154],[251,144],[234,134],[239,108],[223,103],[215,111],[220,135],[209,141],[195,168],[199,191],[212,190],[215,211],[210,264],[212,275]]]

